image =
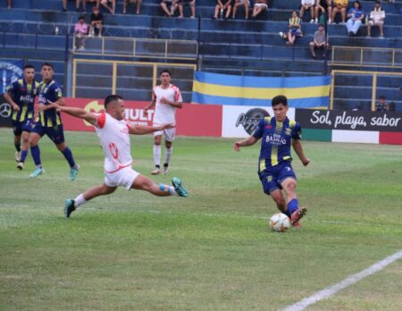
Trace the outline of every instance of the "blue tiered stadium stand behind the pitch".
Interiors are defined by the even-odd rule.
[[[268,12],[264,12],[256,20],[244,21],[243,13],[238,14],[236,20],[213,20],[214,0],[197,1],[198,19],[177,19],[163,16],[158,2],[142,4],[141,14],[122,14],[122,1],[117,1],[116,13],[105,13],[104,36],[118,38],[158,38],[173,40],[191,40],[198,42],[197,61],[181,61],[182,63],[197,63],[203,71],[269,76],[306,76],[329,73],[331,69],[355,70],[355,71],[400,71],[402,66],[402,22],[400,10],[402,4],[383,3],[381,6],[387,13],[384,33],[385,38],[378,38],[379,30],[373,29],[373,37],[365,38],[365,26],[359,30],[356,38],[348,38],[344,25],[336,24],[328,26],[331,46],[348,47],[375,47],[379,50],[365,54],[371,59],[371,65],[367,63],[357,64],[347,61],[342,62],[333,57],[346,59],[339,49],[336,55],[328,53],[327,61],[312,61],[308,50],[308,42],[314,36],[315,24],[307,22],[309,14],[305,16],[302,25],[304,36],[297,40],[293,47],[285,45],[278,35],[279,31],[287,29],[288,18],[291,11],[298,7],[298,0],[269,1]],[[13,10],[5,7],[0,9],[0,44],[2,58],[24,58],[29,63],[39,65],[43,61],[50,61],[55,66],[55,78],[66,86],[64,92],[71,94],[71,60],[74,58],[87,59],[118,59],[126,62],[160,62],[172,63],[158,55],[152,55],[154,48],[149,45],[138,45],[136,56],[107,56],[91,55],[96,50],[95,39],[87,41],[86,53],[71,55],[72,29],[78,17],[82,14],[75,12],[73,2],[68,4],[68,12],[62,12],[61,0],[14,0]],[[351,5],[351,3],[349,4]],[[363,1],[365,12],[373,8],[373,1]],[[85,13],[87,21],[92,5],[87,6]],[[101,8],[101,10],[103,10]],[[241,9],[240,9],[241,10]],[[67,36],[69,35],[69,36]],[[91,48],[91,46],[93,46]],[[95,46],[95,47],[94,47]],[[124,46],[115,44],[109,52],[120,51]],[[381,58],[384,54],[380,49],[393,51],[391,65],[384,65]],[[91,51],[92,49],[92,51]],[[142,50],[141,50],[142,49]],[[143,55],[138,55],[143,52]],[[385,50],[384,50],[385,51]],[[185,53],[183,53],[185,55]],[[361,53],[363,55],[363,52]],[[350,53],[348,52],[348,55]],[[374,59],[374,62],[373,62]],[[378,63],[376,63],[378,60]],[[67,62],[69,61],[69,62]],[[334,62],[336,61],[336,62]],[[173,62],[177,63],[177,62]],[[162,65],[162,64],[161,64]],[[82,67],[85,74],[77,76],[77,97],[102,97],[111,91],[111,66],[96,65],[96,75],[102,79],[91,80],[90,66]],[[149,89],[152,85],[152,75],[149,68],[133,71],[129,64],[121,66],[119,71],[117,90],[123,96],[132,99],[149,99]],[[188,71],[178,70],[179,81],[175,81],[183,90],[184,100],[191,98],[192,77]],[[69,73],[70,72],[70,73]],[[132,75],[136,74],[133,78]],[[94,72],[95,74],[95,72]],[[84,83],[85,82],[85,83]],[[132,89],[135,84],[136,88]],[[387,76],[385,73],[377,79],[377,94],[384,94],[389,101],[397,103],[397,109],[402,110],[399,86],[401,78]],[[371,88],[373,86],[373,74],[367,73],[338,74],[335,79],[334,107],[370,109]]]

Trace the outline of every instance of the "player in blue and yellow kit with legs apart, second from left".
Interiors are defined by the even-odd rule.
[[[55,109],[57,105],[64,105],[62,90],[58,83],[53,80],[54,69],[50,63],[42,64],[40,73],[42,82],[39,84],[39,114],[29,135],[30,153],[37,167],[29,177],[35,178],[44,172],[40,161],[38,141],[46,134],[70,164],[70,180],[74,181],[80,166],[75,163],[70,148],[64,143],[62,118]]]

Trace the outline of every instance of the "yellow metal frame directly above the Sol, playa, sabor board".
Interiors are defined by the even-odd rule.
[[[372,111],[375,110],[375,101],[377,100],[377,78],[379,76],[380,77],[398,76],[398,77],[402,78],[402,72],[332,70],[331,71],[331,95],[330,95],[330,109],[331,110],[334,108],[334,93],[335,93],[335,88],[337,87],[335,84],[335,79],[336,79],[337,74],[371,76],[373,78],[371,85],[366,86],[366,87],[372,88],[372,97],[371,97]]]

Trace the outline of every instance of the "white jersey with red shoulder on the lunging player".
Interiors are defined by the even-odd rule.
[[[96,134],[105,154],[106,173],[118,172],[132,164],[129,125],[108,113],[96,113]]]

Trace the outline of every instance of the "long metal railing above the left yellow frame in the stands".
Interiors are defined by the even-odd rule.
[[[76,49],[74,55],[102,55],[113,57],[147,57],[174,60],[197,60],[197,40],[172,40],[156,38],[87,37],[85,50]]]

